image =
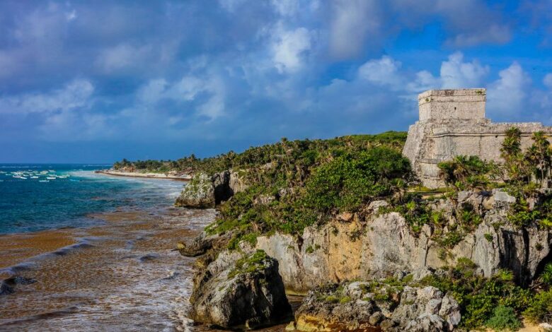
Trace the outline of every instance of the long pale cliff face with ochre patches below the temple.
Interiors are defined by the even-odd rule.
[[[323,282],[355,278],[413,274],[420,279],[459,258],[476,263],[485,277],[508,268],[518,282],[528,283],[550,260],[552,232],[538,225],[517,229],[508,223],[506,208],[512,198],[502,191],[469,191],[461,192],[456,203],[433,203],[432,208],[449,217],[466,202],[481,213],[481,224],[452,248],[439,245],[442,234],[435,234],[430,225],[412,232],[396,212],[372,212],[364,220],[358,215],[347,221],[335,218],[320,227],[306,227],[301,237],[276,232],[258,237],[255,247],[280,262],[288,292],[305,293]]]

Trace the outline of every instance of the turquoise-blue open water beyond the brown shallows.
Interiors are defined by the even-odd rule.
[[[171,205],[182,182],[109,177],[101,164],[0,164],[0,234],[101,221],[91,213]]]

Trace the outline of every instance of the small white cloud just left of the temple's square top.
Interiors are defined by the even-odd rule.
[[[381,59],[369,60],[360,66],[358,74],[360,78],[377,85],[388,85],[393,89],[401,89],[403,78],[398,72],[401,62],[384,55]]]

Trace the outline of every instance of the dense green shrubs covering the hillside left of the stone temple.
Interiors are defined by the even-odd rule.
[[[271,158],[243,172],[250,186],[220,206],[209,234],[231,232],[229,247],[250,234],[300,234],[332,215],[360,211],[370,201],[403,191],[412,179],[401,155],[403,133],[348,136],[328,141],[282,140]],[[287,148],[280,151],[280,147]],[[278,151],[281,154],[277,153]],[[258,198],[270,196],[270,203]]]

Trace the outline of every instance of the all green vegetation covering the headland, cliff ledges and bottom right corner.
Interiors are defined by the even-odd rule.
[[[344,212],[362,216],[370,202],[386,199],[389,206],[380,208],[380,213],[401,213],[414,235],[429,225],[433,239],[441,247],[439,256],[446,261],[450,249],[483,221],[476,207],[454,201],[458,191],[497,186],[516,197],[507,222],[517,227],[552,227],[552,195],[539,191],[548,186],[552,175],[552,150],[544,134],[535,133],[533,144],[522,150],[519,129],[508,130],[500,150],[505,160],[502,165],[462,155],[439,163],[448,186],[443,194],[454,202],[452,211],[446,213],[436,211],[431,198],[421,199],[420,192],[407,192],[416,180],[410,162],[401,155],[405,140],[406,133],[402,132],[314,141],[282,138],[278,143],[249,148],[243,153],[203,159],[190,155],[159,162],[122,160],[114,167],[149,172],[239,172],[248,189],[219,206],[217,220],[206,228],[208,234],[229,235],[230,249],[238,249],[242,241],[254,245],[259,235],[273,232],[300,236],[305,227],[323,225]],[[483,236],[493,242],[492,234]],[[536,244],[537,250],[538,246],[542,248]],[[305,251],[314,254],[317,249],[307,246]],[[264,251],[257,251],[239,260],[229,277],[258,271],[265,259]],[[539,322],[552,320],[552,264],[542,267],[530,287],[516,285],[510,271],[501,271],[492,278],[483,278],[476,271],[473,262],[457,259],[456,266],[416,284],[451,292],[461,306],[461,328],[466,330],[483,326],[515,330],[522,317]],[[373,294],[374,300],[392,302],[407,284],[411,284],[411,277],[390,278],[367,283],[363,291]],[[337,288],[330,295],[321,293],[321,300],[345,303],[350,298]]]

